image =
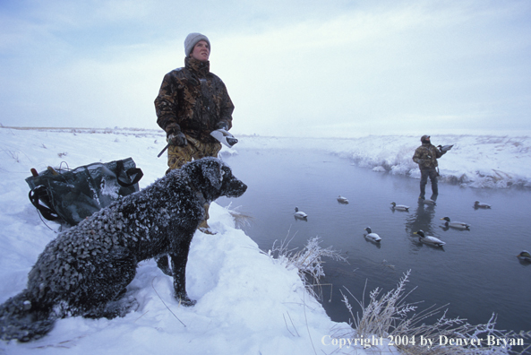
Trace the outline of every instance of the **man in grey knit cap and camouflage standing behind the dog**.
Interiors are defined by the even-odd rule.
[[[157,99],[157,123],[167,134],[169,172],[185,163],[204,157],[218,157],[219,143],[210,133],[232,127],[234,105],[225,84],[210,73],[210,40],[201,33],[190,33],[184,39],[184,67],[166,74]],[[205,220],[199,229],[212,234],[207,223],[209,204],[205,204]]]

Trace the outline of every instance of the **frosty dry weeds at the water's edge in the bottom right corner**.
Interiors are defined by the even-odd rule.
[[[407,339],[408,342],[395,344],[401,353],[405,354],[524,354],[531,348],[528,340],[531,339],[531,331],[515,333],[513,331],[503,331],[495,329],[496,316],[492,315],[487,324],[469,325],[466,319],[446,317],[447,310],[443,307],[428,307],[415,313],[417,306],[405,301],[407,296],[415,289],[405,293],[406,283],[410,271],[404,273],[397,288],[381,295],[381,289],[376,288],[369,292],[369,304],[364,305],[364,295],[362,300],[355,298],[347,290],[357,304],[362,308],[362,316],[354,315],[352,305],[347,296],[343,293],[343,303],[347,307],[350,316],[354,321],[354,328],[348,334],[340,334],[340,337],[352,337],[353,339],[364,336],[376,335],[388,339]],[[365,294],[365,290],[364,290]],[[414,312],[412,316],[409,316]],[[442,312],[441,317],[433,325],[423,323],[429,318]],[[421,343],[420,339],[426,342],[432,341],[433,346]],[[451,345],[441,342],[441,339],[451,339]],[[489,343],[487,340],[500,340],[498,343]],[[411,342],[415,341],[415,343]],[[478,340],[481,340],[478,342]],[[503,340],[508,341],[503,342]],[[527,343],[525,341],[527,340]],[[515,346],[511,341],[524,342],[524,346]],[[518,347],[514,349],[513,347]]]

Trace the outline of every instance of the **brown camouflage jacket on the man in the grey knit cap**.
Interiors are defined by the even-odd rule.
[[[225,84],[210,73],[210,62],[190,57],[184,67],[164,76],[155,99],[157,123],[167,134],[179,131],[202,143],[215,143],[210,132],[232,126],[234,105]]]

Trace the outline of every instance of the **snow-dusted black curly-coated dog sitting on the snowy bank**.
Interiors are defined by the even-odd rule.
[[[203,205],[246,188],[221,160],[194,160],[64,231],[39,255],[27,288],[0,306],[0,338],[38,339],[64,316],[124,316],[134,306],[121,298],[137,264],[162,255],[171,259],[176,299],[193,306],[185,269]]]

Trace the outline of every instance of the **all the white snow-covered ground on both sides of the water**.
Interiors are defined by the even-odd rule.
[[[236,149],[224,148],[224,154],[318,148],[367,169],[419,177],[411,161],[420,144],[416,136],[237,138]],[[455,144],[440,160],[443,179],[478,188],[531,186],[528,137],[432,135],[432,141]],[[0,129],[0,302],[24,289],[32,264],[56,237],[57,224],[43,223],[28,199],[24,179],[31,168],[42,171],[67,163],[73,169],[132,157],[144,172],[143,188],[164,175],[166,154],[159,159],[157,154],[165,144],[162,132],[155,130]],[[237,199],[233,204],[238,205]],[[136,312],[113,320],[62,319],[39,341],[0,342],[0,353],[363,355],[375,350],[333,344],[330,336],[345,333],[348,325],[332,322],[304,289],[297,270],[262,253],[216,203],[210,209],[210,226],[218,234],[196,233],[188,262],[188,291],[198,300],[195,307],[179,307],[171,296],[170,278],[153,261],[143,262],[128,288],[140,303]],[[390,351],[380,347],[376,353]]]

